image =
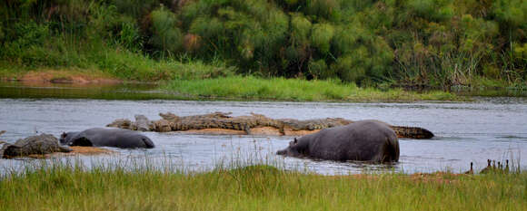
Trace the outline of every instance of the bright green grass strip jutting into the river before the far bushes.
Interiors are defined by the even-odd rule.
[[[174,80],[161,86],[164,91],[194,98],[219,98],[272,101],[460,101],[462,98],[444,91],[418,93],[394,89],[380,91],[358,88],[336,81],[300,79],[262,79],[254,76],[231,76],[204,80]]]

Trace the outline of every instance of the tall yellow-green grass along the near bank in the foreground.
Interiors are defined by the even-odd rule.
[[[321,176],[48,165],[0,177],[0,210],[526,210],[527,174]]]

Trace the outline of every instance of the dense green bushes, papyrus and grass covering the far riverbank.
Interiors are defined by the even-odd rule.
[[[524,88],[527,79],[522,0],[8,0],[0,16],[3,78],[102,72],[175,80],[164,89],[187,84],[182,90],[194,92],[201,79],[239,82],[234,75],[273,85],[294,83],[273,79],[284,77],[346,89],[399,84],[445,91]],[[231,85],[214,90],[229,95]],[[198,94],[215,95],[204,92]],[[254,96],[248,92],[234,95]],[[323,99],[346,99],[331,95]]]

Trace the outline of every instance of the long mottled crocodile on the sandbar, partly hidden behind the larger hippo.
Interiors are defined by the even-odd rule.
[[[118,119],[107,127],[149,130],[158,132],[232,129],[251,134],[254,129],[275,129],[281,135],[310,134],[320,129],[333,128],[353,123],[343,118],[325,118],[316,120],[272,119],[262,114],[251,113],[248,116],[232,117],[231,113],[214,112],[204,115],[177,116],[174,113],[160,113],[161,120],[147,120],[143,115],[135,115],[135,121]],[[431,139],[433,133],[417,127],[390,126],[399,138]]]

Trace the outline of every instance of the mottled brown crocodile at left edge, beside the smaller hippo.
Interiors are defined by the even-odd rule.
[[[45,155],[54,152],[70,152],[72,149],[60,146],[53,135],[41,134],[18,139],[15,144],[6,143],[0,149],[1,158],[23,157],[29,155]]]

